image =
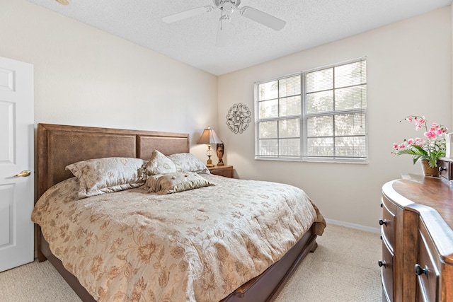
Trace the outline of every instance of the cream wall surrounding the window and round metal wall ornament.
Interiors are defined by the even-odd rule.
[[[328,219],[377,228],[384,182],[420,173],[391,145],[419,136],[406,115],[452,127],[451,8],[219,76],[219,129],[225,162],[239,178],[286,182],[304,189]],[[226,112],[234,103],[253,110],[253,83],[358,57],[367,57],[369,163],[300,163],[254,160],[255,127],[234,134]]]

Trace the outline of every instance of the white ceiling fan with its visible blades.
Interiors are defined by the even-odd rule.
[[[165,23],[173,23],[176,21],[183,20],[185,18],[190,18],[193,16],[200,15],[202,13],[209,13],[210,11],[214,11],[218,9],[220,11],[220,19],[219,19],[219,29],[217,30],[217,46],[224,46],[226,44],[226,36],[229,30],[229,22],[231,21],[231,14],[234,11],[238,10],[241,16],[249,18],[253,21],[261,23],[268,28],[272,28],[273,30],[281,30],[285,27],[286,21],[283,21],[280,18],[274,17],[260,11],[256,8],[250,6],[243,6],[241,5],[241,0],[212,0],[214,6],[201,6],[197,8],[189,9],[188,11],[182,11],[180,13],[175,13],[170,16],[166,16],[162,18],[162,21]]]

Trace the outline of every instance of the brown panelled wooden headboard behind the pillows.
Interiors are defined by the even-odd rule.
[[[189,134],[38,124],[38,198],[74,176],[64,169],[71,163],[103,157],[148,160],[155,149],[165,155],[189,152]]]

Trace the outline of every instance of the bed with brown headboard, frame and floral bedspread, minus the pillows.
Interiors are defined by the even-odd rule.
[[[156,194],[144,190],[147,181],[79,199],[82,178],[65,169],[103,158],[147,163],[157,150],[170,158],[189,149],[188,134],[38,124],[38,259],[49,260],[82,301],[273,301],[326,226],[302,190],[194,173],[208,184]],[[306,201],[291,201],[293,193]],[[285,209],[273,205],[278,196]],[[52,207],[55,216],[45,216]],[[289,219],[299,207],[306,216]],[[245,238],[249,228],[258,230],[253,239]]]

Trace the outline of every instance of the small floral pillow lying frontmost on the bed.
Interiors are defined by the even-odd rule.
[[[175,172],[161,175],[151,175],[145,183],[148,192],[170,194],[207,187],[212,183],[193,172]]]

